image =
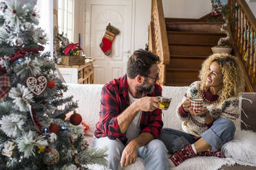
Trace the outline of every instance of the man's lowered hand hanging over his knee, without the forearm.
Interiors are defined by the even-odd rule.
[[[128,165],[134,164],[138,156],[138,145],[131,141],[122,151],[120,160],[121,167],[127,167]]]

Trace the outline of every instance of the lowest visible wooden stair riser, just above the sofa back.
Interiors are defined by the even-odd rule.
[[[166,75],[167,84],[191,84],[199,80],[198,69],[168,69]]]

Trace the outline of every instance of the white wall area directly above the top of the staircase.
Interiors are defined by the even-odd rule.
[[[162,0],[164,17],[199,19],[211,12],[211,0]]]

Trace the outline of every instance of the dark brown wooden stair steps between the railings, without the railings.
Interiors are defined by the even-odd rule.
[[[205,18],[165,19],[170,51],[167,86],[189,86],[199,80],[202,62],[211,55],[211,47],[217,45],[217,40],[225,36],[220,25],[207,23]]]

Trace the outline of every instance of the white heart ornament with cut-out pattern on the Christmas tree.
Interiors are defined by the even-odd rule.
[[[32,93],[35,95],[41,95],[47,86],[47,79],[43,75],[40,75],[37,78],[28,77],[25,83]]]

